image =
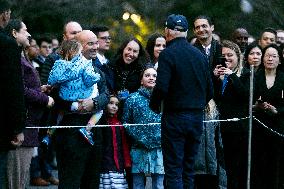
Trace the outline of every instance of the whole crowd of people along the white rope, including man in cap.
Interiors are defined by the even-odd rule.
[[[129,36],[106,57],[107,26],[36,39],[10,14],[0,0],[0,189],[284,188],[284,30],[223,39],[199,15],[189,38],[171,14],[145,47]]]

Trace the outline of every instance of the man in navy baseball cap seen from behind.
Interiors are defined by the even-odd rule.
[[[159,56],[156,86],[150,107],[162,116],[162,150],[166,187],[192,189],[204,108],[212,98],[206,57],[187,40],[188,22],[170,15],[166,22],[167,48]],[[162,105],[161,105],[162,104]]]

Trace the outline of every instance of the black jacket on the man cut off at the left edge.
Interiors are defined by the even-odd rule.
[[[4,34],[0,27],[0,152],[11,149],[11,140],[25,127],[26,110],[20,59],[21,49],[15,39]]]

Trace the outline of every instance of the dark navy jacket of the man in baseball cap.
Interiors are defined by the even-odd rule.
[[[159,56],[158,75],[150,107],[155,112],[204,110],[213,96],[206,57],[186,38],[171,40]]]

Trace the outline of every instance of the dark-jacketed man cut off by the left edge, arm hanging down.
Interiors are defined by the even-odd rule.
[[[7,169],[8,150],[24,141],[25,106],[21,71],[21,54],[16,41],[3,33],[10,20],[10,4],[0,0],[0,65],[1,65],[1,132],[0,132],[0,188]],[[5,124],[4,124],[5,123]]]

